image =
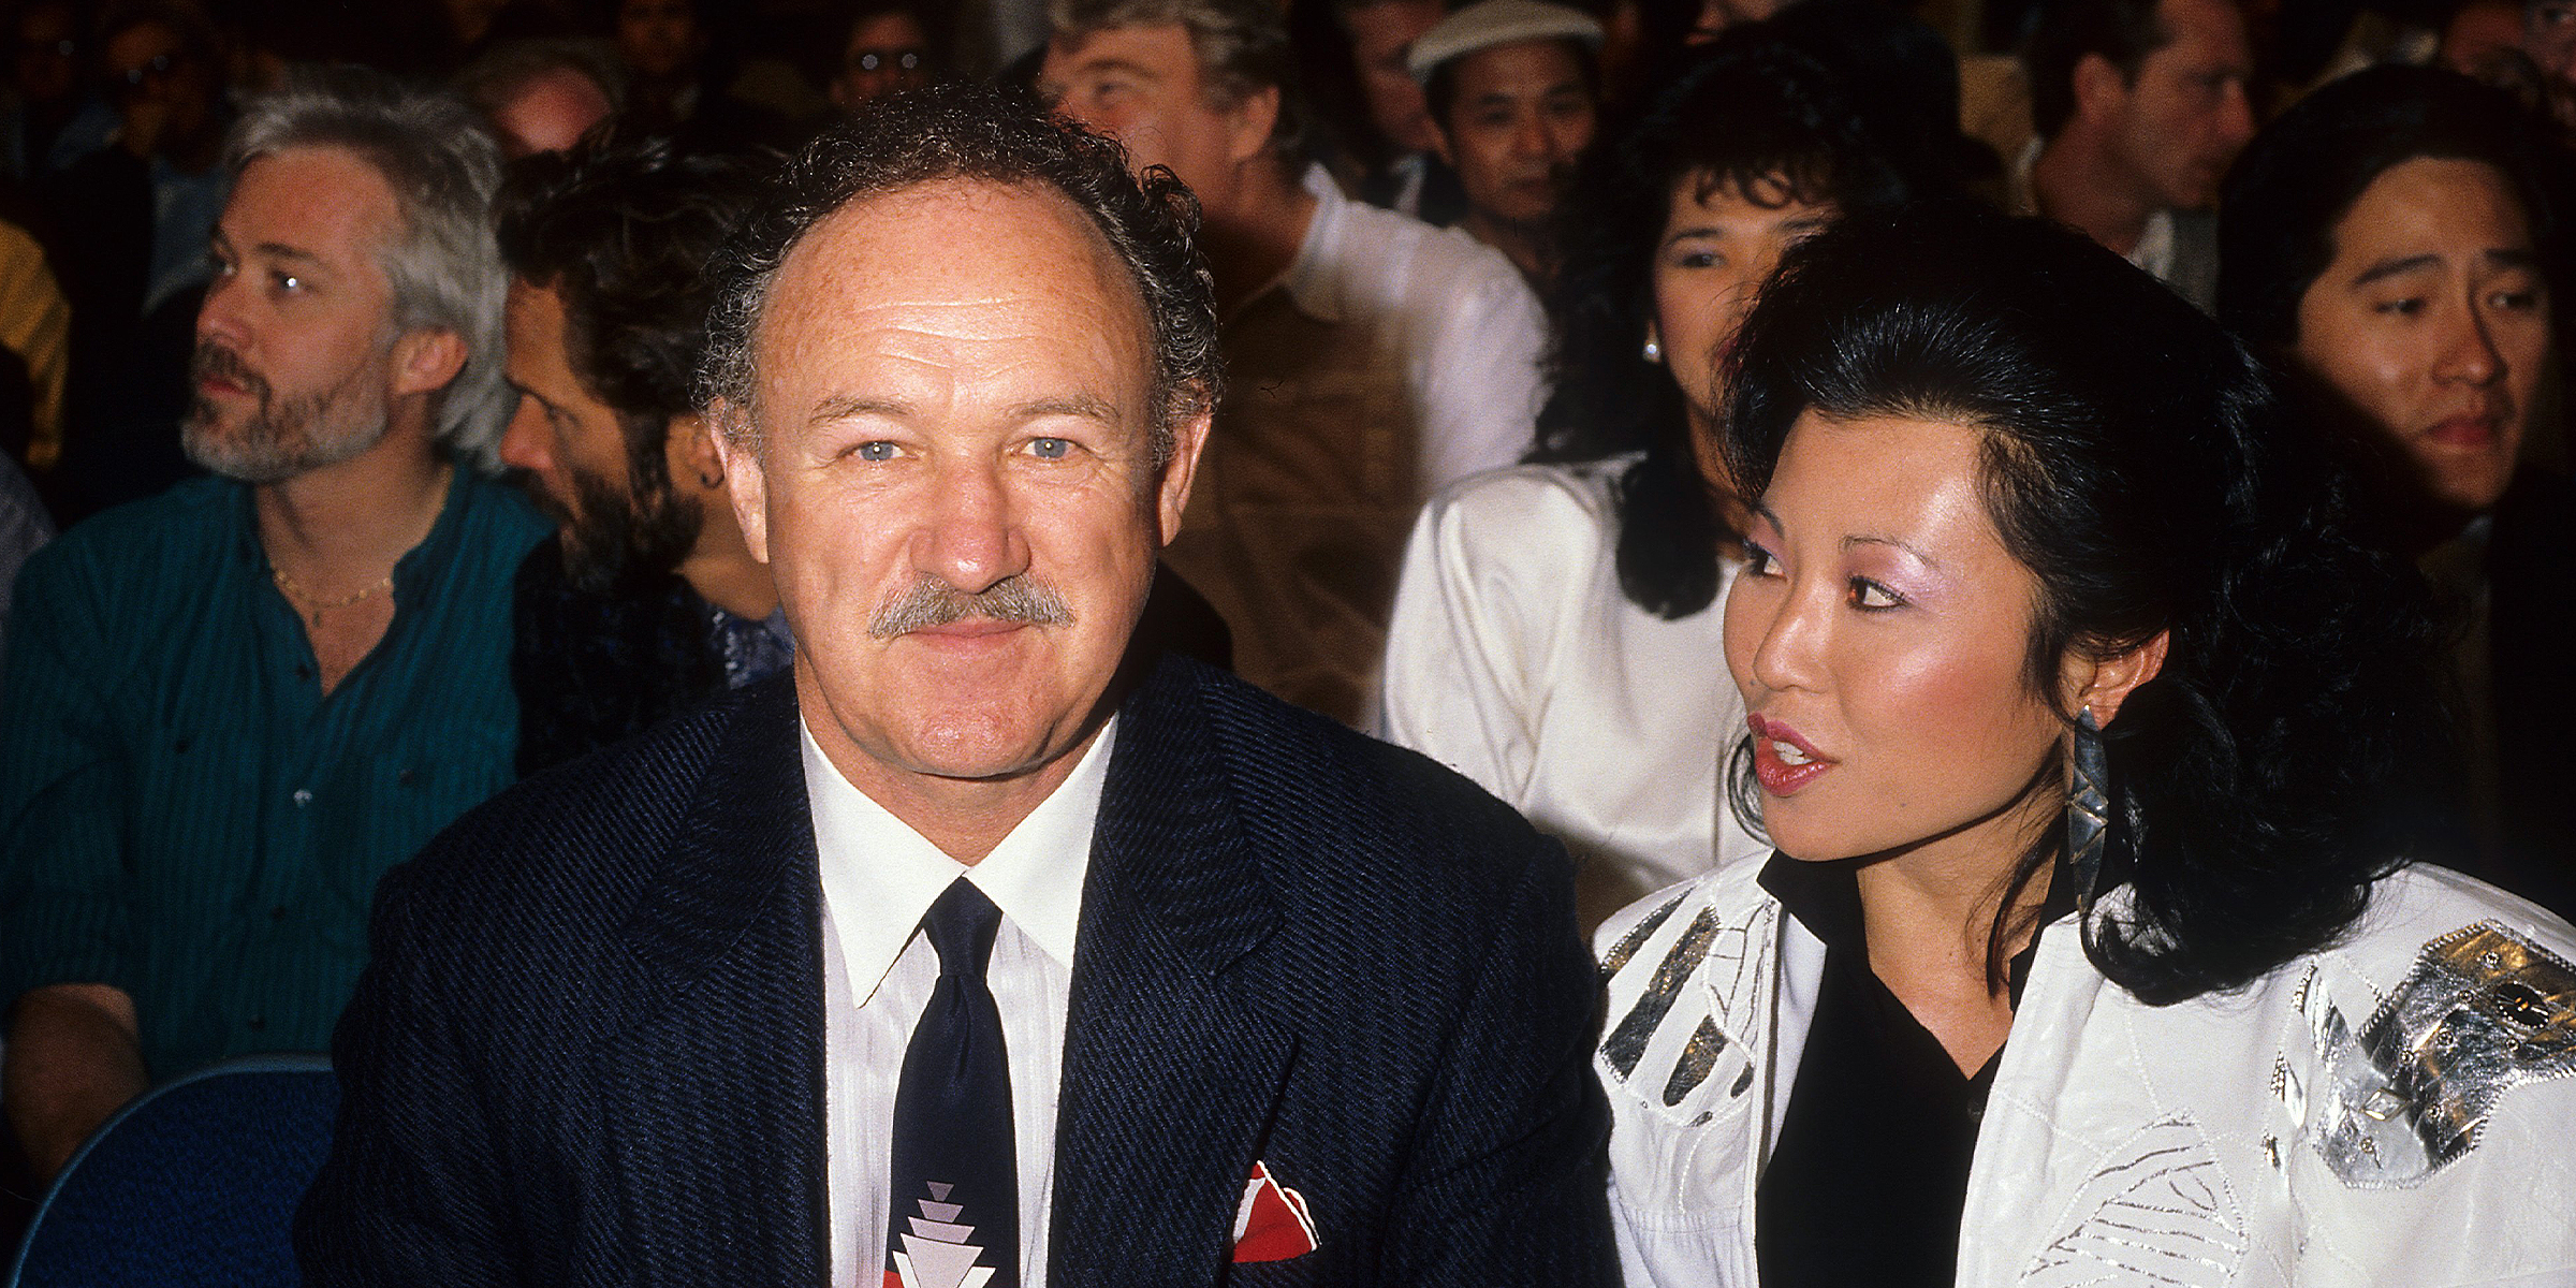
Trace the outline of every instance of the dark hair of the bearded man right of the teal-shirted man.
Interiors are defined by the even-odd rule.
[[[510,165],[495,198],[510,273],[564,299],[572,374],[618,415],[639,492],[670,489],[670,420],[698,410],[716,304],[706,260],[760,198],[775,155],[680,155],[585,139]]]

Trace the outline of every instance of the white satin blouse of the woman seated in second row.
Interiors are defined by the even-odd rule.
[[[1628,459],[1481,474],[1422,507],[1386,634],[1378,729],[1502,796],[1582,860],[1584,927],[1770,853],[1723,806],[1744,701],[1718,598],[1680,621],[1618,585]]]

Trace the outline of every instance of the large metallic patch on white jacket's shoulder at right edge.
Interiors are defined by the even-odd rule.
[[[2344,1185],[2419,1185],[2478,1146],[2504,1092],[2576,1074],[2576,966],[2478,922],[2427,943],[2360,1033],[2329,1007],[2316,1038],[2318,1157]]]

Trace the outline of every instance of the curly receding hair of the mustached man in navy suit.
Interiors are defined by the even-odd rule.
[[[770,191],[708,265],[716,309],[698,402],[726,404],[726,435],[757,446],[752,363],[760,312],[778,265],[814,224],[853,201],[922,183],[981,180],[1061,193],[1108,242],[1136,283],[1154,345],[1154,464],[1172,451],[1172,425],[1224,392],[1216,348],[1216,289],[1193,240],[1198,201],[1164,167],[1128,173],[1126,149],[1048,116],[1025,90],[953,80],[863,103],[778,170]],[[976,247],[956,247],[974,255]]]

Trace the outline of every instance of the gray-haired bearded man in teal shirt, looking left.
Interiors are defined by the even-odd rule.
[[[492,482],[500,155],[374,72],[227,142],[188,456],[18,580],[0,672],[0,1103],[39,1175],[152,1082],[317,1051],[376,876],[510,781]]]

